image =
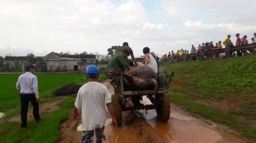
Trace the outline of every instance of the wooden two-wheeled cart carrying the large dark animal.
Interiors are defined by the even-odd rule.
[[[111,84],[113,85],[115,92],[111,97],[111,102],[114,108],[115,118],[118,122],[118,125],[121,125],[122,122],[122,111],[134,110],[134,109],[156,109],[157,117],[161,121],[168,121],[170,116],[170,105],[167,96],[168,88],[170,81],[174,73],[171,75],[166,72],[163,75],[158,76],[158,89],[155,90],[143,90],[143,91],[124,91],[124,83],[123,83],[123,74],[120,76],[114,76],[111,80]],[[147,96],[148,99],[152,102],[152,104],[144,105],[140,103],[140,99],[142,96]],[[132,101],[133,103],[139,102],[138,105],[132,107],[125,107],[125,103],[127,101]]]

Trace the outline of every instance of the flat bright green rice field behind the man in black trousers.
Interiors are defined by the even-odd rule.
[[[16,82],[21,74],[0,74],[0,112],[19,107],[19,92],[16,90]],[[41,100],[63,85],[72,82],[83,84],[86,81],[83,73],[35,73],[35,75],[38,80]]]

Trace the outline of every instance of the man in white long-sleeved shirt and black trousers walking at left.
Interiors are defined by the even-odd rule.
[[[37,87],[37,77],[34,75],[35,66],[33,64],[28,64],[26,66],[26,73],[20,75],[18,77],[18,81],[16,83],[16,89],[20,91],[20,118],[22,119],[22,124],[20,127],[27,127],[27,115],[28,115],[28,106],[29,101],[33,106],[33,116],[35,121],[40,121],[39,116],[39,93]]]

